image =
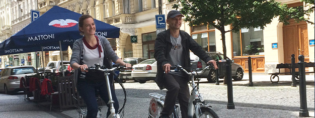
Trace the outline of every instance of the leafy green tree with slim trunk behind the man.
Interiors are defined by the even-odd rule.
[[[314,3],[314,0],[302,1]],[[264,29],[277,16],[281,16],[280,22],[288,23],[290,18],[301,18],[302,13],[297,8],[289,9],[274,0],[177,0],[177,2],[173,8],[180,9],[186,17],[184,21],[188,22],[189,26],[209,24],[221,32],[224,59],[226,59],[225,33],[250,27]],[[297,15],[290,15],[292,13]],[[309,12],[303,12],[305,13]],[[296,21],[299,20],[305,18]],[[227,25],[231,26],[230,30],[224,29]]]

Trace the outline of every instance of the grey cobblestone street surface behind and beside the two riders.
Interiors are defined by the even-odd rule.
[[[271,83],[270,75],[254,74],[254,86],[249,87],[248,75],[242,81],[233,81],[233,101],[235,109],[226,109],[227,86],[207,83],[205,78],[200,81],[200,93],[219,117],[299,117],[300,99],[299,86],[291,87],[291,76],[281,75],[279,83]],[[314,117],[314,75],[306,75],[306,95],[309,115]],[[123,92],[119,84],[115,84],[120,105],[123,103]],[[124,117],[147,117],[149,95],[157,92],[165,94],[153,81],[144,84],[127,81],[127,103]],[[107,109],[104,106],[103,114]],[[77,117],[75,109],[62,112],[69,117]]]

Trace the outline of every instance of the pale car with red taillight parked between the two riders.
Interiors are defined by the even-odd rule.
[[[131,76],[139,83],[145,83],[148,80],[155,80],[156,73],[156,60],[147,59],[132,66]]]

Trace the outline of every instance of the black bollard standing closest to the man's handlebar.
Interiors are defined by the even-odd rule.
[[[231,71],[231,60],[226,59],[227,109],[235,109],[233,102],[233,85]]]

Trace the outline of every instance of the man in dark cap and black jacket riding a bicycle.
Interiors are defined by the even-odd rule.
[[[154,44],[154,58],[157,60],[156,84],[160,89],[166,88],[165,104],[160,117],[169,117],[174,111],[174,105],[178,98],[182,117],[188,117],[189,87],[187,81],[189,75],[180,72],[170,72],[170,67],[182,65],[190,67],[189,50],[207,63],[212,63],[217,69],[216,63],[202,50],[188,33],[181,31],[182,17],[179,11],[172,10],[167,15],[169,29],[157,35]]]

